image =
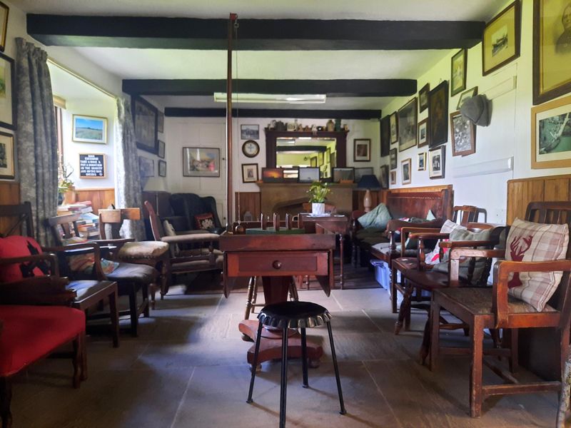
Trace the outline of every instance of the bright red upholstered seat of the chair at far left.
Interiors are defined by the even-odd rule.
[[[0,305],[0,377],[10,376],[73,340],[85,314],[64,306]]]

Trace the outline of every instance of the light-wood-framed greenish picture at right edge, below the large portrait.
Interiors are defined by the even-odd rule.
[[[571,166],[571,96],[531,109],[531,167]]]

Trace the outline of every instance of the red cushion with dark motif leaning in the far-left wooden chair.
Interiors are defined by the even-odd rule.
[[[22,257],[43,253],[39,243],[34,238],[26,236],[8,236],[0,238],[0,258]],[[0,282],[19,281],[24,277],[44,276],[49,273],[49,266],[45,262],[4,265],[0,267]]]

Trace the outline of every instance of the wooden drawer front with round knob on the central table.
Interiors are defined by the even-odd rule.
[[[228,276],[328,275],[328,251],[227,253]]]

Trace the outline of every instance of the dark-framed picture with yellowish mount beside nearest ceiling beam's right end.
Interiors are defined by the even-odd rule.
[[[561,4],[563,2],[560,1]],[[520,0],[516,0],[485,26],[482,36],[483,76],[520,56],[520,33],[521,8]]]

